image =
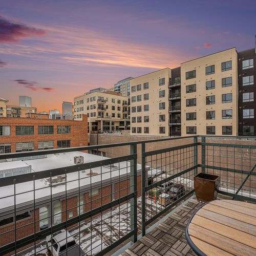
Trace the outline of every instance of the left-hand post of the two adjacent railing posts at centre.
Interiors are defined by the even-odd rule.
[[[137,154],[137,144],[130,145],[130,154]],[[131,230],[134,231],[131,241],[135,243],[138,236],[137,226],[137,156],[136,159],[131,160],[130,170],[130,193],[134,193],[134,197],[131,199]]]

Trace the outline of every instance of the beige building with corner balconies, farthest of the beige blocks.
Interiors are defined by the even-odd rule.
[[[130,129],[128,98],[97,88],[74,98],[74,120],[88,116],[88,131],[114,132]]]

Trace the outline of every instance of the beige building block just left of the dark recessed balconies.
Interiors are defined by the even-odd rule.
[[[168,84],[165,68],[130,80],[131,134],[169,136]]]

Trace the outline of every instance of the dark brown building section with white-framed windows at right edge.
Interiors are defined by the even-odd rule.
[[[238,52],[238,120],[240,136],[256,136],[256,104],[254,96],[256,87],[256,51],[255,48]]]

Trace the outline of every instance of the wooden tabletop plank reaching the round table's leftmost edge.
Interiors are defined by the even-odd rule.
[[[228,251],[234,255],[256,255],[256,250],[241,244],[239,242],[234,242],[234,240],[221,236],[210,230],[206,230],[200,226],[193,223],[189,224],[188,233],[190,237],[195,237],[201,239],[202,237],[207,238],[207,243],[215,246],[221,250]]]

